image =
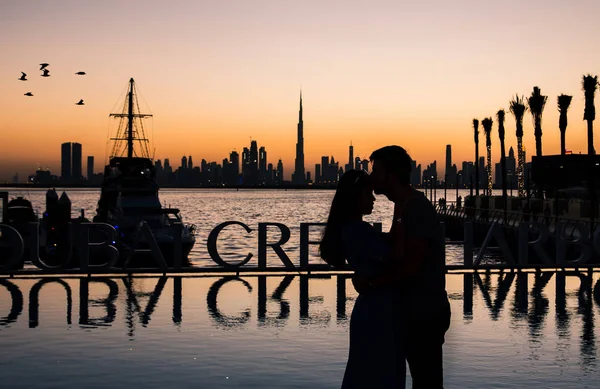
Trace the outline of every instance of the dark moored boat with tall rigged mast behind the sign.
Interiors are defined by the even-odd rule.
[[[156,170],[142,123],[142,119],[152,115],[139,112],[133,78],[129,80],[123,112],[110,116],[120,119],[120,123],[116,137],[111,138],[114,144],[109,163],[104,168],[93,221],[108,223],[117,230],[114,244],[121,263],[126,261],[131,267],[157,266],[153,257],[156,253],[148,251],[153,242],[148,238],[140,241],[140,236],[144,235],[142,229],[149,228],[168,266],[173,266],[175,253],[179,252],[182,264],[189,264],[189,253],[196,242],[195,226],[183,222],[179,209],[165,208],[160,202]],[[180,251],[175,247],[179,244]],[[142,250],[136,250],[138,246]]]

